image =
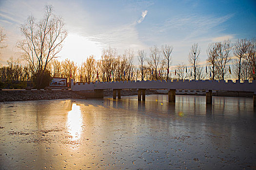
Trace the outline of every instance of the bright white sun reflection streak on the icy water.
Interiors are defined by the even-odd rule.
[[[76,103],[72,104],[72,109],[68,112],[67,128],[72,136],[71,140],[78,140],[82,131],[82,114],[80,106]]]

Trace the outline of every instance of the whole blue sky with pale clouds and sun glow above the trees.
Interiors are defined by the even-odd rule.
[[[172,65],[188,64],[188,53],[198,43],[201,63],[209,43],[255,38],[256,0],[0,0],[0,27],[7,35],[7,48],[0,51],[0,64],[19,58],[20,25],[33,15],[38,20],[51,4],[61,16],[68,36],[59,53],[78,65],[90,55],[100,59],[104,48],[118,54],[169,44]]]

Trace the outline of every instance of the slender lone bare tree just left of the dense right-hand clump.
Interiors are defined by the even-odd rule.
[[[188,61],[191,64],[191,68],[193,71],[193,76],[194,76],[194,80],[197,80],[197,68],[199,65],[199,58],[198,56],[200,55],[201,49],[198,46],[198,44],[193,44],[190,52],[189,52],[189,56],[188,56]]]

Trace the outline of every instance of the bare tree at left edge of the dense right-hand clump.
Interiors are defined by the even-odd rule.
[[[219,43],[211,43],[208,45],[207,49],[207,62],[210,66],[210,71],[212,72],[212,80],[215,79],[216,76],[216,64],[217,64],[217,51],[218,51]]]

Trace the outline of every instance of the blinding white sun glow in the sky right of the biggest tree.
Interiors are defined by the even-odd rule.
[[[95,55],[99,59],[101,47],[99,43],[90,41],[89,38],[70,33],[66,37],[59,55],[61,60],[67,58],[75,61],[77,64],[81,64],[90,55]]]

